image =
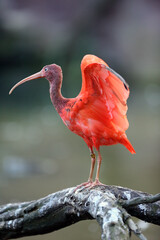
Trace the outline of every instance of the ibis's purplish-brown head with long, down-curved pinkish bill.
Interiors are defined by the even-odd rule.
[[[9,94],[13,92],[13,90],[18,87],[19,85],[31,81],[37,78],[46,78],[50,84],[54,84],[56,82],[59,82],[62,79],[62,69],[60,66],[56,64],[50,64],[46,65],[42,68],[40,72],[37,72],[27,78],[24,78],[23,80],[16,83],[11,90],[9,91]]]

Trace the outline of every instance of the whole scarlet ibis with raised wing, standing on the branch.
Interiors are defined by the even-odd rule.
[[[127,120],[127,99],[129,86],[126,81],[102,59],[85,55],[81,62],[82,88],[75,98],[64,98],[61,94],[62,69],[56,64],[46,65],[13,86],[9,94],[22,83],[37,78],[46,78],[50,85],[51,101],[64,124],[86,142],[91,156],[91,168],[86,185],[100,184],[99,172],[102,157],[101,145],[121,143],[132,154],[134,148],[127,139],[125,131]],[[93,182],[95,153],[98,151],[97,172]]]

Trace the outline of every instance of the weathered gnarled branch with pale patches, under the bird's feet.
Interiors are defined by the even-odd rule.
[[[102,239],[129,239],[132,231],[144,240],[130,215],[160,225],[159,195],[117,186],[75,189],[0,206],[0,239],[44,234],[94,218],[102,228]]]

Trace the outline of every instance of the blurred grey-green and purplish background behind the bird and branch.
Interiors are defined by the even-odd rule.
[[[101,181],[159,192],[160,2],[1,0],[1,204],[38,199],[87,180],[89,151],[55,112],[48,82],[35,80],[8,95],[17,81],[56,63],[63,69],[63,95],[75,97],[87,53],[104,59],[131,91],[127,135],[137,154],[121,145],[102,147]],[[160,239],[158,227],[144,228],[148,239]],[[25,239],[100,239],[100,229],[95,221],[84,221]]]

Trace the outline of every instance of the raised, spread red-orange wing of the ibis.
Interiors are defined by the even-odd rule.
[[[128,84],[105,62],[91,63],[83,68],[80,96],[83,95],[88,95],[88,101],[92,99],[91,109],[94,109],[96,99],[100,102],[101,116],[110,120],[115,129],[125,131],[128,128]]]

